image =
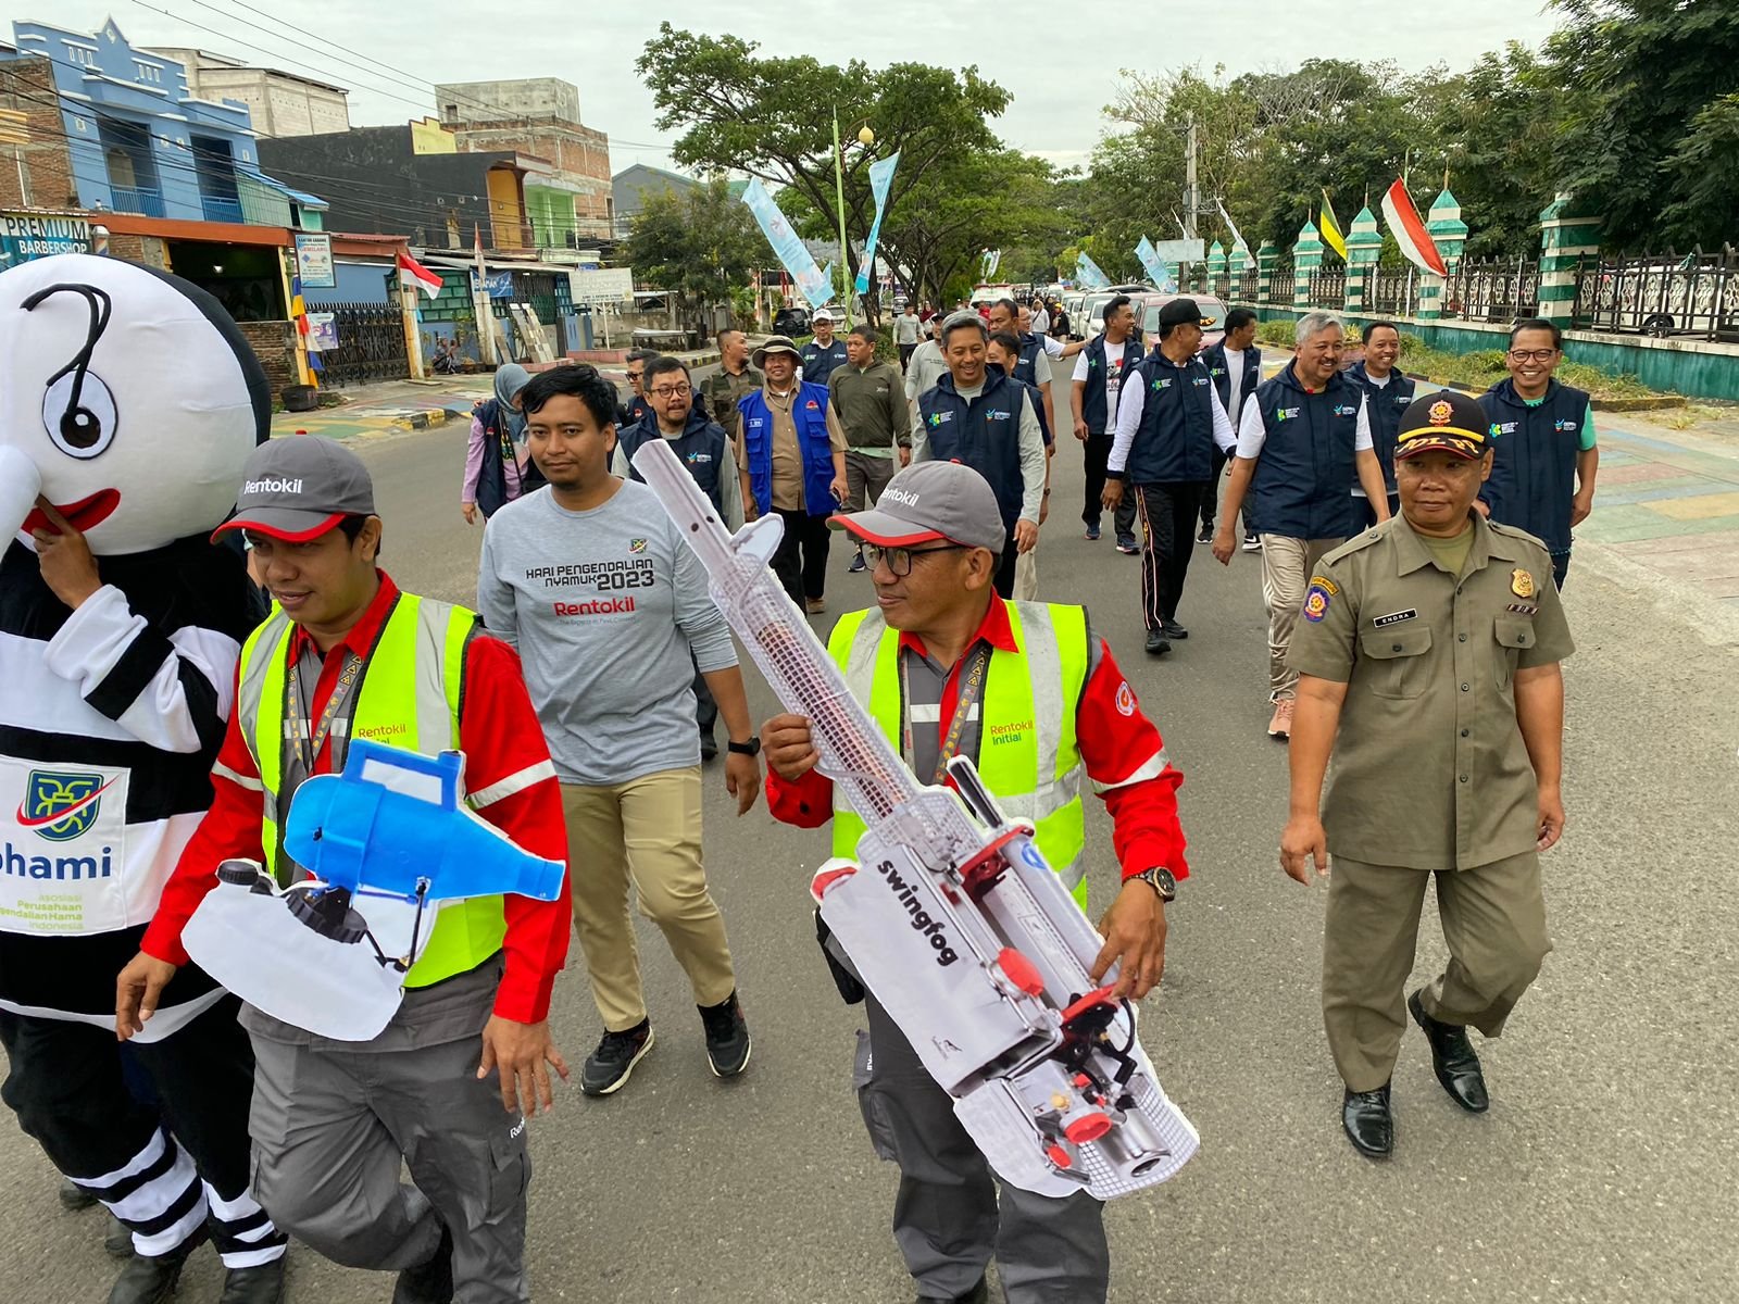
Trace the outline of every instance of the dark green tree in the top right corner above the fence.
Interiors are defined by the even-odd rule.
[[[1732,240],[1739,3],[1553,2],[1569,16],[1546,42],[1565,97],[1558,188],[1600,207],[1609,247]]]

